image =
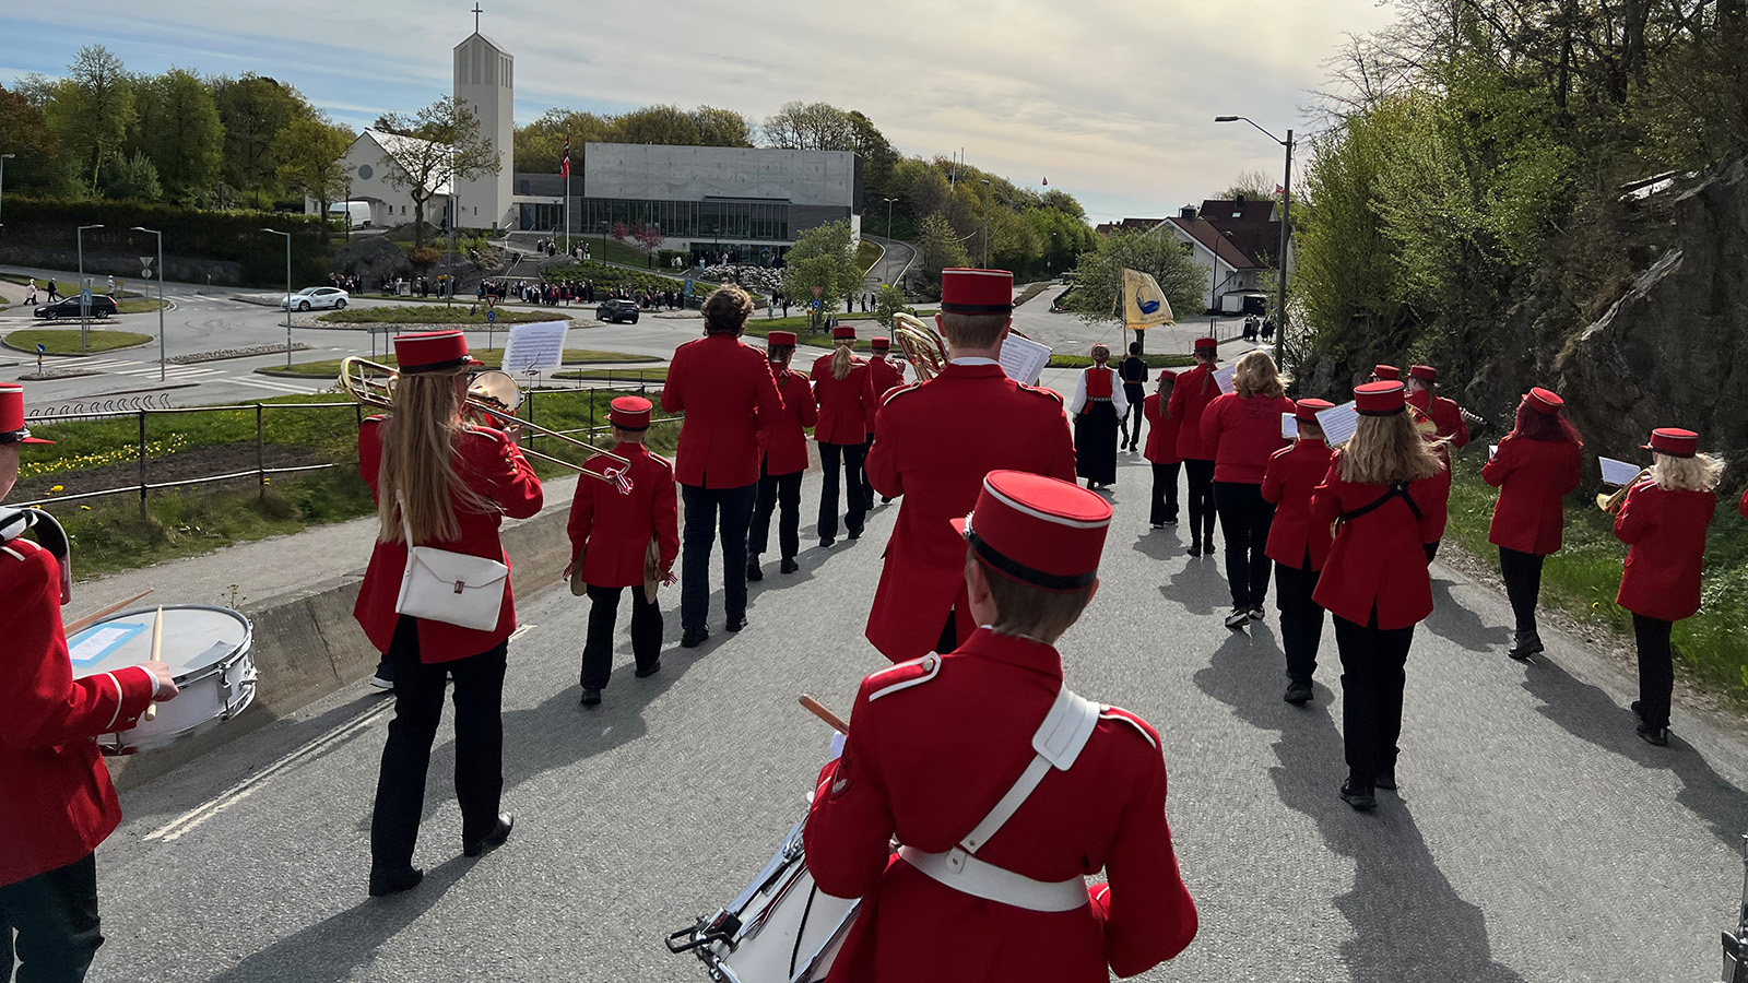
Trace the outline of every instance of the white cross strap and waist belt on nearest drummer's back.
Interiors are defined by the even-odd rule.
[[[1056,693],[1056,703],[1031,735],[1037,752],[1014,787],[989,810],[989,815],[972,829],[960,845],[946,854],[926,854],[914,847],[900,847],[898,855],[930,878],[972,897],[1000,901],[1030,911],[1073,911],[1087,903],[1086,880],[1063,882],[1033,880],[1024,875],[979,861],[974,854],[1000,831],[1019,806],[1031,798],[1051,768],[1068,771],[1086,749],[1092,728],[1098,726],[1098,703],[1082,700],[1065,686]]]

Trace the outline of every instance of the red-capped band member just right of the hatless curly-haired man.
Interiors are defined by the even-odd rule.
[[[808,427],[820,422],[820,408],[813,402],[808,376],[788,369],[795,357],[795,332],[773,331],[766,336],[771,374],[783,409],[774,420],[759,425],[759,495],[753,521],[746,530],[746,579],[762,581],[759,554],[771,542],[771,512],[781,505],[776,544],[781,554],[778,570],[801,570],[795,554],[801,553],[801,476],[808,471]]]

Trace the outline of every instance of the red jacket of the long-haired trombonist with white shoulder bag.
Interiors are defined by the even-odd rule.
[[[376,498],[376,472],[383,460],[381,416],[372,416],[358,429],[358,474],[371,486],[371,498]],[[498,526],[503,516],[526,519],[540,511],[544,495],[540,479],[528,467],[528,458],[498,430],[484,427],[467,427],[461,430],[454,448],[454,469],[468,488],[484,495],[502,509],[491,512],[468,511],[460,500],[453,504],[456,519],[461,525],[461,537],[449,542],[420,542],[418,546],[435,546],[451,553],[470,556],[489,556],[510,563],[509,553],[498,542]],[[378,542],[371,551],[371,567],[364,572],[364,586],[358,588],[358,603],[351,616],[358,619],[364,633],[386,652],[388,642],[395,637],[395,602],[400,600],[400,575],[407,568],[407,544]],[[498,645],[516,631],[516,598],[510,595],[510,581],[503,581],[503,610],[498,614],[498,626],[491,631],[474,631],[460,624],[420,619],[420,661],[447,663],[477,656]]]

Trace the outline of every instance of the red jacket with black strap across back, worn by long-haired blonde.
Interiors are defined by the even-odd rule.
[[[1328,474],[1311,495],[1311,521],[1332,525],[1390,492],[1386,485],[1353,485],[1341,479],[1341,455],[1330,455]],[[1437,479],[1409,485],[1414,504],[1437,495]],[[1426,528],[1432,512],[1421,505],[1414,518],[1402,498],[1342,523],[1323,561],[1323,575],[1311,595],[1323,610],[1365,624],[1377,610],[1377,626],[1409,628],[1432,614],[1432,575],[1426,572]]]

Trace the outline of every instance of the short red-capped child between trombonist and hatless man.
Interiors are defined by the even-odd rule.
[[[619,595],[631,588],[631,656],[638,679],[661,672],[661,605],[643,593],[645,560],[650,540],[661,554],[666,575],[680,558],[680,511],[675,502],[673,464],[643,446],[650,429],[650,401],[621,395],[608,409],[615,455],[629,460],[622,483],[577,481],[570,502],[570,572],[589,586],[589,635],[582,644],[582,705],[600,707],[601,689],[614,673],[614,623],[619,619]],[[582,465],[608,478],[619,471],[612,458],[594,455]]]

